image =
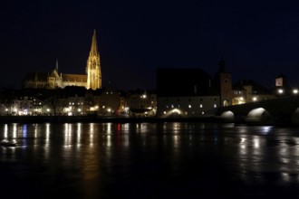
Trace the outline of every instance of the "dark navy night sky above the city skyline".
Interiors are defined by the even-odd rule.
[[[102,84],[155,89],[158,67],[227,62],[233,80],[299,81],[299,1],[10,0],[0,6],[0,86],[29,71],[84,73],[97,31]],[[179,80],[178,80],[179,81]]]

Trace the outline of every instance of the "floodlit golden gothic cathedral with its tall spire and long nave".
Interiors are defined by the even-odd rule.
[[[92,48],[86,63],[86,74],[63,74],[56,68],[51,72],[29,72],[23,81],[24,89],[57,89],[66,86],[80,86],[87,90],[101,89],[101,62],[95,30]]]

